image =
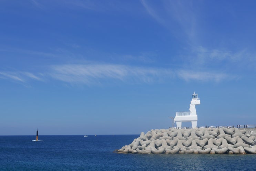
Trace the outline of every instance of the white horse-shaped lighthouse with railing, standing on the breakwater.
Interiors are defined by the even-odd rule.
[[[197,115],[195,105],[200,105],[200,99],[197,98],[197,94],[192,95],[192,100],[190,102],[190,111],[176,112],[174,122],[176,122],[177,128],[181,129],[182,122],[191,122],[192,127],[197,126]]]

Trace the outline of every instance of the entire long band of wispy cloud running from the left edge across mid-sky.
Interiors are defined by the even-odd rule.
[[[64,64],[52,65],[41,74],[31,72],[0,72],[0,78],[21,83],[31,80],[53,79],[70,84],[101,85],[106,82],[121,81],[127,84],[150,84],[173,81],[220,82],[233,79],[229,74],[211,71],[175,70],[156,67],[138,67],[118,64]]]

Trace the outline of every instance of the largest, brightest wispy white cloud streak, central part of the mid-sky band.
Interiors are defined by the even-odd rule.
[[[133,67],[116,64],[68,64],[51,66],[54,79],[83,84],[98,84],[109,79],[130,83],[152,83],[174,74],[168,69]]]

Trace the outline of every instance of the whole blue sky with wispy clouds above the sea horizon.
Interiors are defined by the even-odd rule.
[[[255,5],[2,0],[0,135],[168,128],[194,91],[198,126],[256,124]]]

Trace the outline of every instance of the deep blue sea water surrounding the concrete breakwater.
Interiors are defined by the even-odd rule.
[[[118,154],[139,135],[0,136],[0,171],[250,171],[256,154]]]

